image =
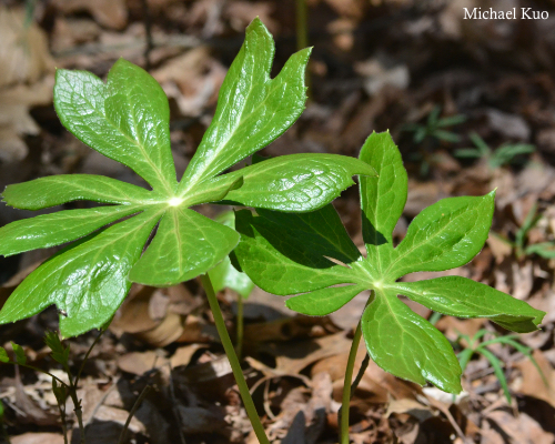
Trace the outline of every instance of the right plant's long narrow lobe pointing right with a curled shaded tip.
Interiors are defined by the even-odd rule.
[[[524,301],[461,276],[396,282],[391,289],[435,312],[458,317],[487,317],[518,333],[538,330],[545,315]]]

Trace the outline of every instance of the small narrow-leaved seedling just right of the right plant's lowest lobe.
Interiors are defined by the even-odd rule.
[[[505,377],[505,373],[503,372],[503,362],[495,356],[495,354],[488,350],[490,345],[493,344],[503,344],[503,345],[508,345],[515,349],[516,351],[521,352],[523,355],[528,357],[528,360],[532,361],[534,366],[537,369],[539,375],[542,376],[542,380],[544,381],[545,386],[547,387],[549,384],[542,372],[542,369],[537,364],[536,360],[532,355],[532,349],[527,347],[523,344],[521,344],[518,340],[517,334],[508,334],[505,336],[502,336],[498,333],[493,333],[495,337],[488,340],[488,341],[483,341],[481,340],[490,332],[488,330],[482,329],[480,330],[473,337],[468,336],[467,334],[458,334],[457,337],[457,343],[461,344],[461,340],[464,339],[466,341],[467,347],[465,347],[462,352],[457,354],[458,363],[461,364],[461,369],[464,373],[466,370],[466,366],[468,365],[468,362],[471,361],[472,356],[474,354],[481,354],[484,356],[487,361],[490,361],[490,364],[492,365],[492,369],[495,373],[495,376],[497,376],[497,380],[500,381],[500,385],[503,389],[503,393],[505,394],[505,398],[507,400],[507,403],[511,404],[511,392],[508,391],[508,384],[507,380]]]

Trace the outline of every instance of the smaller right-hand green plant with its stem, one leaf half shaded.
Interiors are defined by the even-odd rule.
[[[405,295],[428,309],[458,317],[487,317],[518,332],[538,329],[544,312],[488,285],[460,276],[398,282],[416,271],[443,271],[470,262],[487,239],[494,192],[448,198],[423,210],[394,248],[393,229],[403,212],[407,175],[389,132],[373,133],[360,159],[379,178],[361,178],[365,258],[351,241],[332,205],[304,214],[265,209],[235,214],[241,242],[234,253],[253,282],[307,315],[330,314],[364,290],[372,290],[355,333],[382,369],[402,379],[461,391],[461,365],[450,342],[430,322],[401,302]],[[356,353],[351,353],[344,387],[349,391]],[[343,442],[349,440],[349,396],[343,398]]]

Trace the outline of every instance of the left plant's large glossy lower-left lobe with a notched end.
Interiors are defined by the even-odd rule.
[[[127,276],[160,218],[148,211],[69,248],[33,271],[0,311],[0,323],[32,316],[56,304],[63,336],[102,326],[120,306]]]

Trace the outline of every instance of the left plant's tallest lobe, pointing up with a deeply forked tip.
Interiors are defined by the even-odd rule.
[[[179,194],[261,150],[283,134],[304,110],[304,71],[311,50],[293,54],[270,79],[274,42],[256,18],[220,90],[218,108],[196,150]]]

